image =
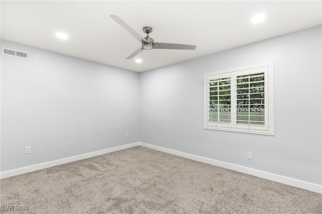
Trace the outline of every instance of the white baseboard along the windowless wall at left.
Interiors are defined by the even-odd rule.
[[[45,169],[48,167],[57,166],[57,165],[64,164],[64,163],[69,163],[72,161],[91,158],[94,156],[103,155],[103,154],[107,154],[110,152],[115,152],[115,151],[119,151],[119,150],[123,150],[123,149],[128,149],[128,148],[135,147],[135,146],[139,146],[139,142],[131,143],[131,144],[123,145],[123,146],[118,146],[118,147],[113,147],[110,149],[103,149],[100,151],[90,152],[90,153],[86,153],[86,154],[82,154],[82,155],[76,155],[73,157],[63,158],[63,159],[59,159],[59,160],[49,161],[46,163],[40,163],[40,164],[36,164],[36,165],[32,165],[32,166],[22,167],[19,169],[13,169],[13,170],[1,172],[0,178],[7,178],[7,177],[15,176],[15,175],[20,175],[20,174],[24,174],[27,172],[36,171],[39,169]]]

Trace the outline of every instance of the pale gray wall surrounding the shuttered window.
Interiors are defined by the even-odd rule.
[[[318,26],[140,73],[140,141],[320,185],[321,57]],[[203,74],[270,61],[275,135],[204,130]]]

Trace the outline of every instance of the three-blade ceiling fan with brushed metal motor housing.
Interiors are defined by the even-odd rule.
[[[149,37],[149,33],[152,32],[151,27],[144,27],[143,32],[147,34],[146,37],[141,37],[136,31],[134,31],[130,26],[128,26],[123,20],[121,20],[117,15],[110,15],[110,17],[117,22],[121,27],[123,27],[127,32],[134,36],[139,42],[142,43],[142,46],[134,51],[126,59],[131,59],[137,54],[141,53],[144,50],[151,49],[180,49],[180,50],[195,50],[196,45],[183,45],[183,44],[173,44],[173,43],[160,43],[153,42],[153,39]]]

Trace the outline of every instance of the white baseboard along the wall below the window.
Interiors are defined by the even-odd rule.
[[[165,153],[177,155],[180,157],[200,161],[203,163],[211,164],[214,166],[219,166],[219,167],[226,168],[226,169],[231,169],[231,170],[234,170],[237,172],[242,172],[245,174],[254,175],[254,176],[261,177],[261,178],[264,178],[267,180],[276,181],[279,183],[299,187],[302,189],[307,189],[307,190],[322,194],[322,185],[309,183],[306,181],[301,181],[301,180],[297,180],[297,179],[293,179],[293,178],[289,178],[289,177],[285,177],[285,176],[281,176],[281,175],[276,175],[276,174],[272,174],[269,172],[264,172],[264,171],[260,171],[260,170],[256,170],[256,169],[252,169],[252,168],[248,168],[248,167],[244,167],[244,166],[239,166],[239,165],[235,165],[235,164],[231,164],[231,163],[226,163],[223,161],[218,161],[218,160],[214,160],[214,159],[210,159],[210,158],[204,158],[204,157],[200,157],[197,155],[179,152],[179,151],[172,150],[172,149],[166,149],[163,147],[153,146],[153,145],[142,143],[142,142],[139,142],[139,145],[146,147],[146,148],[154,149],[154,150],[157,150],[160,152],[165,152]]]

